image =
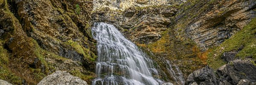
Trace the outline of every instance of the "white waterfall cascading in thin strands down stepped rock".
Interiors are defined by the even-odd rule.
[[[113,25],[95,23],[92,33],[98,41],[93,85],[159,85],[160,80],[152,77],[158,74],[153,62]]]

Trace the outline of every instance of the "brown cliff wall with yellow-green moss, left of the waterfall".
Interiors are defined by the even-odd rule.
[[[0,8],[0,79],[35,85],[61,70],[90,84],[96,58],[91,0],[0,0]]]

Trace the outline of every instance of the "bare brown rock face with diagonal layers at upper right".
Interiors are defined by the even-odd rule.
[[[202,50],[219,45],[253,19],[255,0],[200,0],[188,2],[177,12],[175,28],[183,29]]]

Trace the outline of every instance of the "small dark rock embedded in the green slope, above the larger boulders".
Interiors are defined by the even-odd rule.
[[[226,62],[230,62],[231,60],[235,59],[237,53],[237,51],[225,52],[221,58]]]

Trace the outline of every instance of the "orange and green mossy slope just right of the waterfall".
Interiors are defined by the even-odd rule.
[[[144,51],[152,52],[152,59],[160,66],[161,70],[168,73],[166,63],[163,63],[164,59],[169,60],[174,65],[178,65],[180,70],[183,71],[185,77],[187,77],[193,71],[205,66],[204,53],[197,48],[193,40],[189,40],[183,35],[183,29],[169,28],[167,31],[163,31],[160,40],[150,43],[148,45],[138,44]],[[147,53],[151,55],[151,53]],[[192,66],[193,65],[193,66]],[[161,78],[165,79],[165,78]],[[172,79],[172,78],[169,78]],[[169,80],[165,79],[165,80]]]

